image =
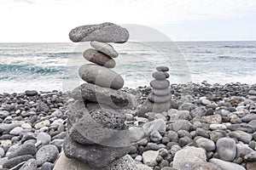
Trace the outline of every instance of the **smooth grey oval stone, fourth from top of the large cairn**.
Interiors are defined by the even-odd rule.
[[[79,68],[79,77],[103,88],[119,89],[124,86],[124,79],[118,73],[100,65],[82,65]]]

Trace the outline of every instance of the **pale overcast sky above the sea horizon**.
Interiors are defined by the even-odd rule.
[[[255,41],[255,0],[0,0],[0,42],[70,42],[77,26],[150,26],[173,41]]]

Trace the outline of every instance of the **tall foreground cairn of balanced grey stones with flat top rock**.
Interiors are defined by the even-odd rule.
[[[136,98],[119,90],[124,80],[111,70],[116,65],[113,58],[119,54],[106,43],[126,42],[129,32],[121,26],[103,23],[74,28],[69,37],[73,42],[90,41],[92,48],[83,55],[93,64],[79,68],[79,77],[87,83],[71,93],[75,101],[67,106],[65,156],[62,154],[62,160],[56,164],[64,169],[137,169],[127,155],[130,141],[125,112],[115,110],[136,107]],[[81,163],[82,167],[78,167]]]

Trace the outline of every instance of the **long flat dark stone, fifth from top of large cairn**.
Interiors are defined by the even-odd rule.
[[[73,99],[91,101],[101,105],[108,105],[111,108],[136,108],[137,99],[132,94],[126,94],[120,90],[101,88],[90,83],[84,83],[73,89]]]

